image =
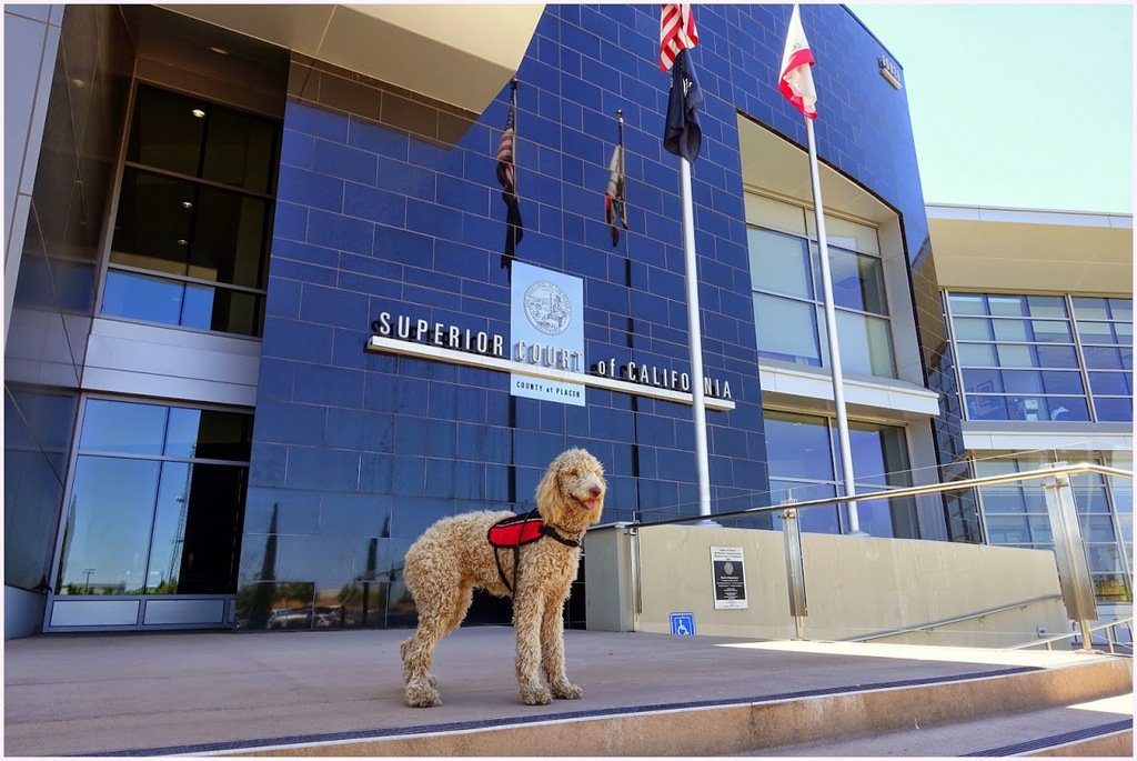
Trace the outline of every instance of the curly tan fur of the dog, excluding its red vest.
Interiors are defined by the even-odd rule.
[[[553,461],[538,485],[537,510],[547,526],[579,543],[588,527],[600,520],[606,489],[599,461],[584,449],[568,449]],[[418,629],[399,648],[409,705],[441,705],[437,680],[430,672],[434,648],[462,623],[475,587],[514,598],[522,702],[545,705],[553,697],[581,696],[580,687],[565,673],[563,612],[576,578],[580,548],[542,537],[521,547],[516,573],[513,551],[496,551],[506,578],[516,579],[516,593],[511,595],[498,576],[487,531],[512,515],[482,511],[442,519],[407,551],[405,578],[418,609]],[[540,681],[539,668],[548,687]]]

